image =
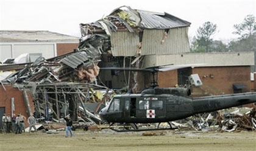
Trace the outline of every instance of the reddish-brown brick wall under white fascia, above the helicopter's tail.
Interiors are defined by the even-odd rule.
[[[243,92],[251,91],[250,66],[200,67],[193,68],[193,74],[199,74],[206,95],[232,94],[234,83],[243,83]]]

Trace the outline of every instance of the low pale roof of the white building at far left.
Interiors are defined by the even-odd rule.
[[[72,42],[79,38],[46,30],[0,30],[0,43],[12,42]]]

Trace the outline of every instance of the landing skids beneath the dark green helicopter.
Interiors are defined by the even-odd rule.
[[[112,127],[112,125],[115,123],[110,124],[110,130],[113,130],[115,132],[143,132],[143,131],[155,131],[155,130],[174,130],[177,128],[172,128],[171,124],[169,124],[169,128],[159,128],[160,123],[158,124],[157,128],[138,128],[138,126],[135,123],[129,123],[125,124],[123,127]],[[121,129],[123,128],[123,129]]]

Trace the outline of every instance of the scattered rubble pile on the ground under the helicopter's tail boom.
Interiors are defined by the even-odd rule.
[[[240,110],[247,112],[241,114]],[[249,110],[249,111],[248,111]],[[233,132],[239,130],[256,130],[256,107],[239,108],[235,111],[215,111],[212,113],[196,114],[190,118],[171,122],[174,127],[182,130],[219,130],[221,132]]]

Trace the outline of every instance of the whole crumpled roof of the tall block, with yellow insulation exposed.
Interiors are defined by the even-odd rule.
[[[191,23],[169,13],[155,13],[145,10],[131,9],[129,6],[121,6],[113,10],[110,15],[99,19],[94,23],[80,24],[82,36],[104,30],[107,35],[112,31],[126,30],[134,32],[140,29],[171,29],[187,27]]]

